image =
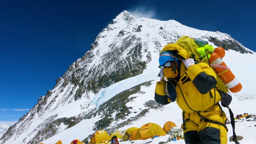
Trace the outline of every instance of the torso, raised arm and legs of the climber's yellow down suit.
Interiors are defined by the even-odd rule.
[[[181,63],[176,102],[183,110],[186,144],[227,143],[227,130],[223,125],[226,116],[218,104],[221,99],[220,93],[215,89],[216,84],[216,74],[208,64],[201,62],[187,69]],[[222,125],[205,122],[199,116],[199,111],[204,118]]]

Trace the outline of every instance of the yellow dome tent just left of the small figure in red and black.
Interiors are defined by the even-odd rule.
[[[92,139],[89,143],[100,143],[100,142],[106,142],[107,140],[111,140],[111,138],[108,136],[108,133],[103,130],[99,130],[93,133]]]

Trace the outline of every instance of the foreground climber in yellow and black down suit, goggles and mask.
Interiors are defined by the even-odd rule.
[[[179,51],[174,55],[180,58],[180,64],[177,65],[177,59],[172,58],[167,61],[171,64],[166,64],[166,60],[161,64],[161,56],[168,56],[162,52],[173,49]],[[159,58],[161,81],[156,84],[156,102],[163,105],[177,102],[182,109],[186,144],[226,144],[227,118],[218,103],[221,96],[213,69],[205,62],[195,63],[189,58],[189,53],[177,44],[167,44],[162,52]]]

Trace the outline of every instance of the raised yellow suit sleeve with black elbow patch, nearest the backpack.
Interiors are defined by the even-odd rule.
[[[202,94],[211,91],[217,84],[216,74],[212,68],[204,62],[188,67],[186,74],[196,86],[196,89]]]

